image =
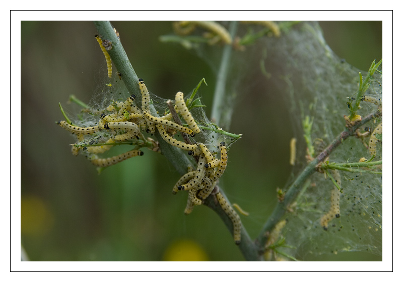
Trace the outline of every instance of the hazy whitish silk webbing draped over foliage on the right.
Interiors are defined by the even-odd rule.
[[[281,30],[280,36],[271,28],[264,30],[261,26],[239,25],[234,39],[237,51],[231,57],[230,83],[226,88],[226,106],[232,108],[236,101],[234,95],[252,96],[250,89],[253,83],[262,77],[266,78],[276,86],[270,89],[270,93],[285,98],[295,137],[306,140],[306,150],[297,154],[297,163],[306,164],[346,128],[346,119],[351,115],[350,105],[356,103],[358,95],[359,70],[332,52],[317,23],[277,24]],[[228,27],[228,23],[223,22],[222,25]],[[267,37],[266,34],[272,36]],[[218,69],[214,62],[219,51],[206,48],[206,44],[200,44],[201,39],[195,40],[190,36],[182,38],[180,42],[183,46],[194,49],[214,70]],[[367,73],[361,73],[365,78]],[[381,65],[367,82],[368,88],[362,94],[382,101]],[[382,107],[378,106],[361,102],[357,114],[365,117],[382,111]],[[228,111],[228,115],[223,114],[226,126],[229,126],[228,117],[232,114],[231,110]],[[363,161],[363,157],[370,159],[369,139],[381,123],[380,117],[364,125],[356,137],[347,139],[330,154],[328,162],[346,164]],[[376,137],[379,140],[376,140],[376,154],[372,161],[382,160],[381,134]],[[299,166],[299,171],[302,167]],[[330,177],[325,177],[332,175],[331,169],[327,173],[314,173],[279,223],[276,240],[285,238],[283,243],[288,246],[279,247],[279,253],[281,250],[289,258],[297,259],[306,258],[308,253],[319,255],[342,251],[368,251],[381,255],[381,169],[381,165],[377,165],[339,170],[341,180],[336,188]],[[293,173],[298,174],[298,168]],[[338,200],[340,217],[333,216],[324,227],[321,218],[331,207],[333,189],[341,189],[342,192]],[[287,186],[284,190],[287,190]],[[284,258],[282,255],[279,257]],[[268,258],[274,259],[273,256]]]

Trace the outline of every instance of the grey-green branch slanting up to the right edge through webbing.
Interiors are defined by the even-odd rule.
[[[363,118],[361,121],[356,122],[353,126],[346,128],[342,133],[339,134],[338,137],[336,137],[329,146],[327,146],[326,149],[324,149],[313,161],[311,161],[305,169],[301,172],[301,174],[297,177],[297,179],[294,181],[294,183],[291,184],[289,187],[284,201],[281,203],[278,203],[275,210],[273,211],[272,215],[267,219],[265,224],[263,225],[262,230],[260,231],[260,234],[258,235],[256,239],[256,244],[258,248],[262,248],[264,246],[265,241],[267,240],[267,237],[265,236],[267,231],[271,231],[273,227],[279,222],[282,216],[287,211],[287,207],[291,202],[294,200],[294,198],[298,195],[298,193],[301,191],[303,183],[305,180],[313,173],[316,171],[316,166],[322,162],[326,157],[329,156],[329,154],[337,148],[344,140],[346,140],[348,137],[352,136],[355,134],[355,131],[366,124],[367,122],[382,116],[382,112],[376,111],[375,113],[372,113],[368,115],[367,117]]]

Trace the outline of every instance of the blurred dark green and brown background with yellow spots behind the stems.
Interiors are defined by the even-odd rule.
[[[137,74],[162,98],[188,93],[205,77],[200,94],[210,115],[215,73],[179,45],[158,37],[171,22],[112,22]],[[382,58],[382,22],[320,22],[331,49],[367,70]],[[147,31],[147,32],[145,32]],[[92,22],[21,22],[21,242],[30,260],[243,260],[224,224],[210,209],[184,216],[186,194],[172,195],[181,176],[162,156],[145,151],[100,175],[83,156],[71,154],[73,139],[54,122],[58,103],[75,95],[88,102],[105,64]],[[220,180],[230,201],[250,213],[241,216],[251,238],[274,208],[276,187],[289,180],[290,120],[270,123],[287,112],[282,99],[241,96],[236,111],[265,114],[271,134],[256,138],[251,117],[235,115],[230,132],[242,133],[229,153]],[[268,105],[270,111],[266,111]],[[275,136],[275,137],[274,137]],[[269,142],[275,148],[251,150]],[[301,142],[302,143],[302,142]],[[312,256],[312,260],[380,260],[362,253]]]

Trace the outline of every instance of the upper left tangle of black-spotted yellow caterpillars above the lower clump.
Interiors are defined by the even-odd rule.
[[[97,37],[97,39],[99,39],[99,37]],[[69,124],[66,121],[57,122],[59,126],[73,133],[76,136],[76,139],[81,142],[81,145],[79,145],[79,143],[74,144],[75,146],[73,146],[72,149],[74,155],[77,156],[79,154],[79,146],[82,146],[83,142],[86,142],[84,136],[90,135],[93,139],[88,145],[93,146],[87,145],[82,147],[87,154],[87,158],[91,161],[92,164],[96,166],[107,167],[130,157],[141,156],[143,155],[143,152],[138,150],[131,150],[124,154],[120,154],[110,158],[100,158],[99,156],[97,156],[97,154],[106,152],[113,145],[116,145],[119,142],[139,138],[139,135],[142,135],[140,129],[142,129],[143,131],[146,130],[147,132],[151,132],[153,134],[155,132],[155,128],[158,129],[159,133],[167,143],[187,150],[191,155],[199,155],[201,153],[201,149],[197,144],[188,145],[183,141],[176,140],[174,137],[167,133],[167,131],[180,131],[193,137],[195,133],[200,132],[200,129],[198,128],[196,122],[194,121],[192,115],[186,107],[186,104],[183,100],[183,93],[178,92],[176,94],[175,100],[178,104],[176,106],[176,109],[182,115],[183,119],[186,121],[191,129],[172,122],[170,120],[172,119],[172,115],[170,117],[166,116],[163,118],[151,115],[150,93],[142,78],[139,79],[139,88],[142,93],[141,109],[133,103],[136,99],[136,96],[131,95],[124,102],[113,102],[111,105],[106,107],[105,111],[101,113],[98,123],[91,127],[79,127]],[[94,143],[98,143],[96,141],[98,140],[97,136],[100,137],[100,135],[110,137],[105,142],[103,142],[103,145],[95,146],[97,144],[94,145]],[[109,145],[109,143],[111,145]]]

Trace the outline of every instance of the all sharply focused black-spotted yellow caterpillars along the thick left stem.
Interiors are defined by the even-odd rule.
[[[214,27],[214,24],[211,27]],[[222,30],[218,29],[216,33],[221,34]],[[99,36],[96,38],[105,54],[108,64],[108,76],[111,77],[112,69],[110,57],[106,52],[107,49],[105,49],[105,44]],[[139,139],[139,136],[144,139],[140,129],[151,134],[155,133],[157,129],[165,142],[171,146],[188,151],[188,155],[194,156],[197,159],[196,170],[190,167],[188,172],[176,182],[172,191],[173,194],[176,194],[178,191],[188,192],[185,214],[189,214],[194,206],[201,205],[211,195],[217,181],[224,173],[227,167],[227,147],[225,142],[221,142],[220,146],[217,147],[220,157],[215,158],[213,153],[203,143],[188,144],[175,139],[174,134],[178,131],[191,137],[201,132],[186,106],[183,93],[176,93],[174,109],[182,116],[188,127],[173,122],[172,114],[167,114],[163,117],[152,115],[150,112],[150,93],[142,78],[139,79],[139,88],[142,95],[141,109],[133,103],[136,96],[131,95],[124,102],[112,102],[104,110],[97,110],[100,113],[100,119],[97,124],[91,127],[79,127],[66,121],[59,121],[57,124],[76,136],[78,143],[74,144],[75,146],[72,149],[73,154],[78,155],[80,147],[83,147],[87,158],[93,165],[98,167],[108,167],[131,157],[142,156],[144,153],[137,149],[132,149],[123,154],[108,158],[101,158],[97,154],[104,153],[112,146],[121,142],[135,138]],[[92,138],[91,141],[86,143],[90,139],[86,139],[85,136],[90,136]],[[109,137],[109,139],[103,142],[102,145],[94,146],[94,144],[99,144],[97,140],[105,138],[105,136]],[[84,147],[83,144],[86,146]],[[234,225],[234,240],[235,243],[239,244],[241,241],[240,218],[220,193],[217,194],[217,200],[232,220]]]

